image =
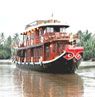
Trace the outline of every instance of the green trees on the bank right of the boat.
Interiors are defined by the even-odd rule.
[[[80,35],[80,45],[84,47],[84,60],[95,58],[95,36],[88,30],[85,32],[78,31]]]

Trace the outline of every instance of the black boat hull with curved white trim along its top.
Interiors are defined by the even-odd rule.
[[[49,73],[75,73],[81,59],[72,58],[67,60],[65,54],[60,55],[51,61],[43,62],[17,62],[17,67]]]

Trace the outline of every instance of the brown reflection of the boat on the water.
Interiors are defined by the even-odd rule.
[[[82,79],[77,74],[59,75],[15,70],[15,85],[22,97],[82,97]]]

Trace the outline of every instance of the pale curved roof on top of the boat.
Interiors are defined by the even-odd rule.
[[[40,27],[54,27],[54,26],[60,26],[64,28],[68,28],[69,25],[64,25],[58,20],[37,20],[34,21],[28,25],[26,25],[25,30],[29,31],[31,29],[40,28]]]

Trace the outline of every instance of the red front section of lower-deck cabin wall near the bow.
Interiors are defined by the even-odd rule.
[[[62,54],[65,49],[65,44],[64,41],[56,41],[45,45],[45,60],[52,60]]]

